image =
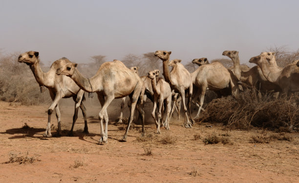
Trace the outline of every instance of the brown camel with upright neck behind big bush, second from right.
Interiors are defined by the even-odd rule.
[[[243,69],[242,67],[240,68],[240,60],[238,54],[239,54],[238,51],[224,51],[222,53],[222,55],[229,57],[234,62],[234,73],[238,73],[238,74],[240,73],[240,76],[238,75],[236,77],[240,77],[240,81],[245,82],[251,87],[256,87],[263,93],[274,91],[276,92],[274,93],[274,96],[277,97],[279,94],[278,92],[281,91],[279,86],[273,82],[268,81],[264,77],[258,65],[252,67],[248,71],[246,71],[244,67]],[[272,60],[269,61],[269,65],[271,70],[273,70],[274,72],[276,72],[275,70],[277,71],[281,70],[281,68],[277,66],[275,57],[273,57]],[[235,69],[237,70],[237,72],[235,72]]]

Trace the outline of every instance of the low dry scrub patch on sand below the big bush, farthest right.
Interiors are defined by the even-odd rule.
[[[279,133],[279,134],[271,134],[268,135],[267,133],[262,133],[260,135],[252,136],[251,141],[252,143],[270,143],[272,141],[289,141],[293,140],[293,137],[286,133]]]

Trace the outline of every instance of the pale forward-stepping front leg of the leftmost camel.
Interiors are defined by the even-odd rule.
[[[48,108],[48,123],[47,123],[45,133],[43,134],[43,137],[52,137],[52,134],[51,134],[51,115],[53,113],[53,109],[57,106],[58,102],[62,98],[61,92],[58,92],[55,95],[53,92],[50,91],[50,96],[51,96],[53,102],[50,105],[50,107]],[[60,118],[57,118],[57,120],[59,120],[58,125],[59,125],[59,128],[61,128],[60,127]]]

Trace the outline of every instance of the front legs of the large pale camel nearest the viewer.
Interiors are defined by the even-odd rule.
[[[107,115],[107,107],[113,101],[114,95],[108,95],[108,96],[106,96],[106,99],[105,99],[105,96],[103,96],[103,95],[98,96],[98,98],[101,102],[101,105],[105,101],[104,105],[102,105],[102,109],[99,113],[99,120],[101,122],[101,138],[99,140],[99,143],[107,143],[108,134],[105,133],[105,131],[107,132],[107,125],[108,125],[108,117],[106,116]],[[103,126],[104,116],[105,116],[105,131],[104,131],[104,126]]]

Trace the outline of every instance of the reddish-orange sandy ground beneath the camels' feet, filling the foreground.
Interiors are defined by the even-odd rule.
[[[261,130],[227,132],[206,123],[186,129],[174,119],[170,131],[162,128],[157,135],[150,122],[146,125],[150,137],[140,139],[140,125],[136,125],[129,131],[128,142],[119,142],[123,127],[110,122],[108,143],[99,145],[99,121],[90,116],[97,116],[100,107],[87,106],[89,134],[82,133],[81,115],[74,137],[66,137],[73,108],[65,105],[64,136],[43,138],[47,107],[0,102],[0,183],[299,183],[298,133],[289,134],[292,142],[251,143]],[[118,111],[110,107],[108,114],[116,116]],[[24,123],[31,128],[23,129]],[[57,126],[54,114],[52,123]],[[227,133],[233,144],[203,142],[209,134]],[[196,134],[199,140],[194,140]],[[163,144],[165,138],[173,143]],[[152,155],[145,155],[145,148]],[[5,163],[10,153],[28,153],[40,161]],[[74,168],[75,162],[83,165]]]

